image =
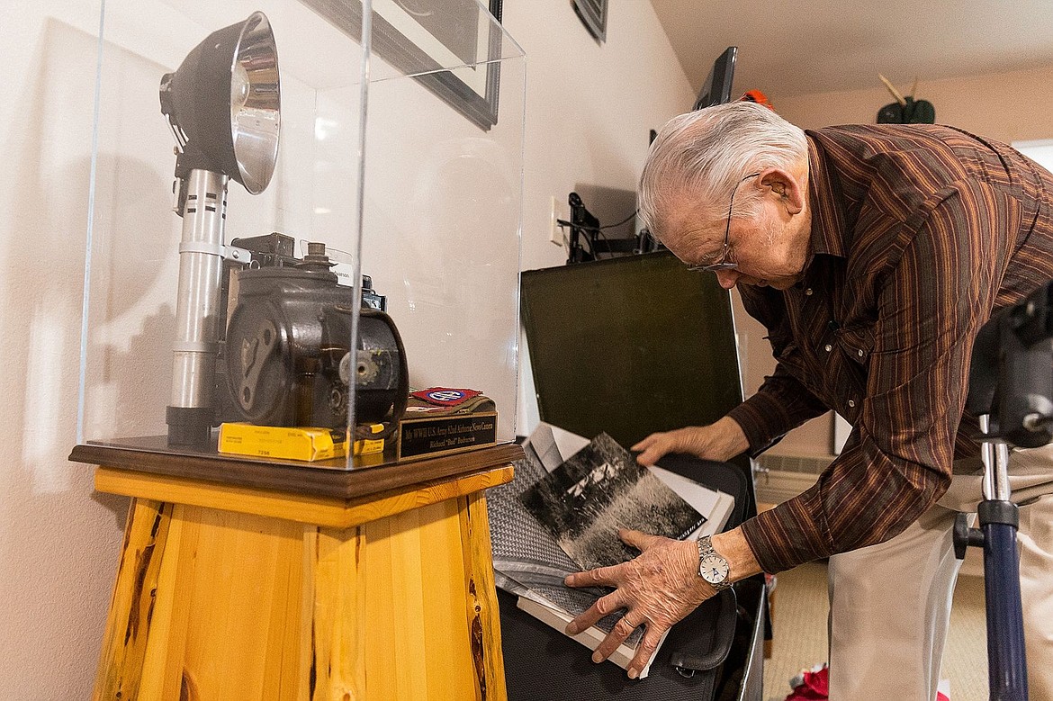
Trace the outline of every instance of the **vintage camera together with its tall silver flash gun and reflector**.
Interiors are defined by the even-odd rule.
[[[210,34],[161,77],[158,95],[183,220],[168,443],[206,446],[222,421],[342,428],[352,408],[356,432],[393,432],[409,374],[383,297],[337,284],[324,244],[298,259],[282,234],[224,242],[229,183],[263,192],[278,158],[281,86],[266,16]]]

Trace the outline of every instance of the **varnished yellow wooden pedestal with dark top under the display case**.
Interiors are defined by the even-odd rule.
[[[95,698],[504,699],[483,490],[521,455],[342,470],[76,446],[132,497]]]

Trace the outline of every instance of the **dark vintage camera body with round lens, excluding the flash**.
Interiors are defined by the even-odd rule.
[[[409,370],[385,298],[367,276],[356,297],[353,287],[337,284],[323,243],[309,243],[302,259],[293,255],[293,239],[277,233],[232,245],[247,251],[251,261],[225,263],[220,420],[343,427],[354,384],[356,425],[384,424],[390,433],[405,409]]]

